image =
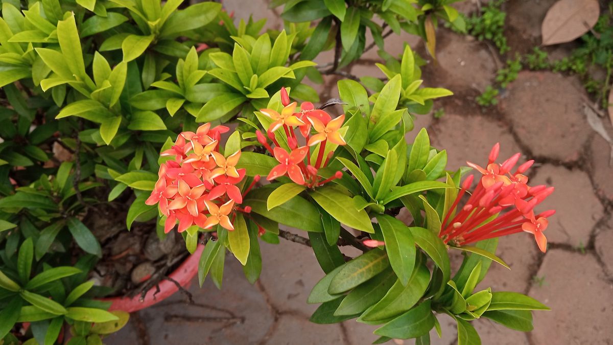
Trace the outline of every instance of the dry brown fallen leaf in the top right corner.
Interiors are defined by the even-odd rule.
[[[598,21],[598,0],[560,0],[545,15],[543,45],[570,42],[587,33]]]

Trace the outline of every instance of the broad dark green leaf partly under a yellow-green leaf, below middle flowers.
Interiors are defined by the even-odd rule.
[[[273,190],[270,187],[251,190],[246,195],[246,200],[243,201],[243,204],[251,206],[252,212],[289,227],[319,233],[324,232],[324,227],[316,207],[299,195],[268,211],[266,203],[268,196]]]

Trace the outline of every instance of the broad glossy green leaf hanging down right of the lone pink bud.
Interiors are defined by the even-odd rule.
[[[386,214],[377,215],[381,226],[389,262],[403,285],[408,284],[415,266],[415,241],[411,231],[394,217]]]

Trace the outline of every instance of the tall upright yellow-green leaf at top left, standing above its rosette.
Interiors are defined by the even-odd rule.
[[[85,74],[81,40],[78,36],[74,14],[71,14],[66,20],[58,21],[58,41],[62,55],[64,55],[64,63],[68,66],[70,72],[80,79],[89,78]]]

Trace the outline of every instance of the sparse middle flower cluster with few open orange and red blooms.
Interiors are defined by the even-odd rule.
[[[343,136],[338,133],[338,130],[340,130],[345,121],[345,115],[332,118],[324,110],[314,109],[313,103],[310,102],[300,104],[300,110],[298,110],[296,102],[290,103],[289,95],[287,95],[285,88],[281,88],[281,104],[284,106],[281,113],[272,109],[260,110],[262,114],[273,120],[273,123],[270,124],[267,130],[268,138],[261,131],[256,131],[257,141],[264,145],[268,152],[279,161],[279,165],[270,170],[267,179],[273,180],[287,175],[296,184],[307,185],[310,188],[321,186],[333,179],[340,179],[343,176],[343,173],[340,171],[324,180],[321,180],[318,171],[321,168],[325,168],[330,158],[334,155],[334,152],[330,151],[327,154],[326,160],[324,160],[326,144],[346,144]],[[295,127],[298,127],[299,133],[305,139],[306,145],[298,146]],[[287,146],[289,146],[291,152],[283,149],[275,138],[275,131],[281,128],[285,131]],[[313,136],[311,136],[311,128],[317,132]],[[268,139],[275,144],[274,149],[268,144]],[[312,163],[310,147],[318,144],[319,152],[316,161]],[[306,164],[305,157],[307,158]]]

